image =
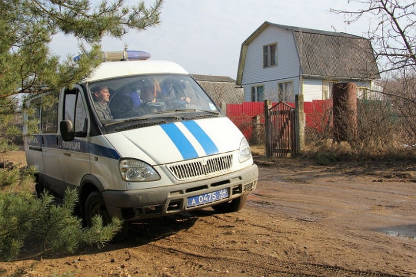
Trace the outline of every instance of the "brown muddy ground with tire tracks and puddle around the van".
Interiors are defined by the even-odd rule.
[[[416,164],[256,159],[239,212],[130,226],[103,249],[0,263],[12,276],[416,276]],[[17,270],[19,269],[19,270]]]

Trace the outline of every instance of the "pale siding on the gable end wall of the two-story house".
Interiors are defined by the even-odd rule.
[[[263,68],[263,46],[277,43],[277,66]],[[242,76],[246,101],[250,101],[251,87],[264,85],[268,99],[277,99],[277,83],[293,80],[294,94],[298,93],[299,58],[291,31],[268,26],[248,46]]]

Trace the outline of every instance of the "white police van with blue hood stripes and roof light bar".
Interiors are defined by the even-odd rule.
[[[97,88],[110,93],[111,117],[99,116]],[[26,160],[38,194],[78,189],[87,224],[96,214],[109,222],[206,207],[233,212],[256,187],[246,138],[175,63],[106,61],[58,94],[52,106],[41,95],[26,103],[36,113],[25,122],[39,119],[38,133],[23,128]]]

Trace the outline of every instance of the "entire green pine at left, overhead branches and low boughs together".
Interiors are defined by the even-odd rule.
[[[155,0],[146,7],[143,1],[128,6],[124,0],[104,0],[95,6],[92,0],[0,0],[0,153],[14,149],[14,138],[20,134],[15,121],[22,97],[16,95],[73,87],[100,64],[103,36],[121,38],[129,30],[158,24],[162,2]],[[58,32],[79,39],[78,54],[83,58],[76,64],[71,57],[62,60],[51,53],[49,44]],[[85,244],[103,246],[120,229],[120,220],[103,227],[100,217],[94,218],[91,228],[83,228],[73,216],[75,191],[66,191],[64,204],[56,206],[49,194],[38,199],[21,188],[3,190],[22,182],[24,176],[18,172],[5,168],[4,162],[0,168],[1,260],[15,258],[29,235],[42,241],[42,254],[74,251]]]

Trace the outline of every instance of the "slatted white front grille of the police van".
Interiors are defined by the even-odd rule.
[[[232,155],[205,157],[192,162],[178,162],[167,166],[178,180],[189,180],[227,171],[232,167]]]

